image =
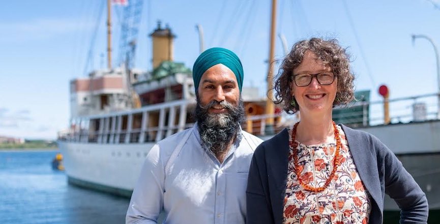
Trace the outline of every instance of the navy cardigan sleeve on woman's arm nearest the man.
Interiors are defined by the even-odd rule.
[[[274,223],[269,198],[265,193],[267,186],[267,170],[264,149],[259,145],[252,156],[246,189],[246,223]]]

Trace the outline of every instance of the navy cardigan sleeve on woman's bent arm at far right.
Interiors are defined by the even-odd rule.
[[[382,143],[379,147],[384,153],[385,193],[401,209],[400,223],[427,223],[428,201],[425,193],[394,153]]]

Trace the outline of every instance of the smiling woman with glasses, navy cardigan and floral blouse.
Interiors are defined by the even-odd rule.
[[[301,120],[257,147],[247,223],[382,223],[384,194],[400,223],[426,223],[426,196],[396,156],[371,134],[332,120],[354,99],[349,57],[337,40],[297,42],[276,78],[275,100]]]

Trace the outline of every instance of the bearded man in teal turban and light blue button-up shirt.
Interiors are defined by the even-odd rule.
[[[211,48],[193,67],[196,124],[158,142],[146,157],[127,223],[246,222],[249,165],[261,139],[241,129],[243,66],[232,51]],[[143,222],[142,222],[143,221]]]

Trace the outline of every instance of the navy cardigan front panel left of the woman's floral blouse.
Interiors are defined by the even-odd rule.
[[[275,223],[282,223],[283,221],[283,206],[286,192],[287,182],[287,165],[288,165],[288,131],[283,129],[280,133],[275,135],[272,139],[274,146],[270,150],[273,153],[268,153],[271,157],[268,158],[267,165],[269,167],[269,190],[271,194],[272,210],[274,213]]]

